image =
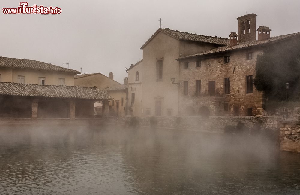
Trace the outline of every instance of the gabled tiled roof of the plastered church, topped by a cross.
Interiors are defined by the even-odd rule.
[[[211,36],[206,36],[206,35],[197,35],[197,34],[192,34],[188,32],[180,32],[178,30],[170,30],[169,28],[165,29],[158,29],[154,35],[152,35],[151,38],[148,39],[148,41],[141,47],[143,49],[146,44],[148,44],[151,39],[157,35],[158,32],[164,32],[174,38],[177,38],[179,40],[187,40],[187,41],[197,41],[197,42],[203,42],[203,43],[211,43],[211,44],[218,44],[218,45],[228,45],[229,44],[229,39],[228,38],[220,38],[217,36],[211,37]]]

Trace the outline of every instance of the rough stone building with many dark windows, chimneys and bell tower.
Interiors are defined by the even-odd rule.
[[[262,114],[263,93],[253,86],[256,58],[280,43],[299,44],[300,33],[271,37],[271,29],[259,26],[256,40],[256,14],[237,20],[238,34],[230,33],[229,44],[177,59],[180,114]]]

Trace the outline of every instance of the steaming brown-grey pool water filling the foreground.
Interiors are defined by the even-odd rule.
[[[152,129],[0,131],[0,194],[299,194],[267,137]]]

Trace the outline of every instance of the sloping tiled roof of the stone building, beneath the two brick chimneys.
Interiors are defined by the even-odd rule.
[[[280,35],[280,36],[276,36],[276,37],[271,37],[270,39],[263,40],[263,41],[256,40],[256,41],[239,42],[237,45],[232,46],[232,47],[230,47],[229,45],[223,46],[223,47],[217,47],[215,49],[207,50],[202,53],[195,53],[193,55],[183,56],[181,58],[178,58],[177,60],[191,58],[191,57],[198,57],[198,56],[207,56],[210,54],[223,53],[223,52],[227,52],[227,51],[243,49],[243,48],[248,48],[248,47],[254,47],[254,46],[263,46],[266,44],[275,43],[277,41],[282,41],[285,39],[293,38],[295,36],[300,36],[300,32],[292,33],[292,34],[288,34],[288,35]]]

